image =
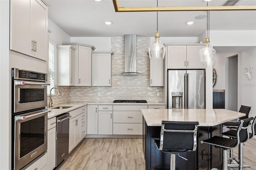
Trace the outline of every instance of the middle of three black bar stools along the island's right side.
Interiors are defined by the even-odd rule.
[[[256,130],[256,117],[254,117],[254,120],[252,122],[252,125],[250,125],[252,127],[252,132],[249,132],[249,139],[253,138],[253,136],[255,135],[255,130]],[[228,130],[226,132],[220,133],[221,136],[228,136],[230,138],[236,139],[236,131],[237,130]],[[228,164],[228,167],[244,167],[244,163],[243,163],[243,145],[244,142],[240,142],[239,144],[239,160],[236,160],[235,158],[232,158],[234,160],[236,160],[237,164],[232,164],[232,162],[230,164]]]

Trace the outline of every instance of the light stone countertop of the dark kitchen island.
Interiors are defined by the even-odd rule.
[[[141,109],[148,126],[161,126],[162,121],[196,121],[199,126],[215,126],[245,116],[226,109]]]

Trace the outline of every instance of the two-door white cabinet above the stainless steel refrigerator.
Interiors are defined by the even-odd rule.
[[[168,45],[167,69],[204,69],[199,51],[204,45]]]

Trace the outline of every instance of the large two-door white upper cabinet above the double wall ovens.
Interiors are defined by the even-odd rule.
[[[10,1],[10,49],[48,61],[48,7],[41,0]]]

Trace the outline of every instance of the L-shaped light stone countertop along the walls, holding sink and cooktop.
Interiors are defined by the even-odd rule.
[[[64,103],[60,105],[54,105],[50,109],[51,112],[48,112],[48,119],[61,115],[62,113],[66,113],[72,111],[74,109],[78,109],[79,107],[83,107],[85,105],[165,105],[165,103],[110,103],[110,102],[71,102],[71,103]],[[72,106],[67,109],[54,109],[54,107],[58,106]]]

